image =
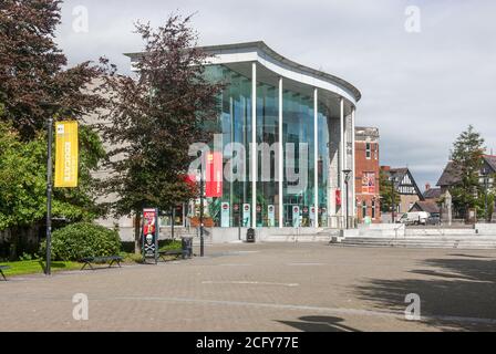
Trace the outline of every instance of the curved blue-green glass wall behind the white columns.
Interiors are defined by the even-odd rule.
[[[250,178],[254,128],[251,77],[225,65],[207,66],[206,75],[213,81],[225,83],[219,96],[219,116],[211,128],[214,133],[221,134],[224,171],[225,175],[230,174],[230,178],[224,178],[223,197],[208,199],[207,217],[213,219],[216,227],[250,227],[254,221],[251,212],[246,212],[245,208],[249,206],[252,211],[255,206],[257,227],[327,227],[329,108],[319,102],[316,150],[313,94],[282,90],[282,136],[279,136],[279,86],[257,82],[255,128],[258,171],[254,204]],[[313,92],[312,87],[307,91]],[[244,153],[232,148],[232,143],[244,146]],[[282,160],[279,160],[278,155],[279,143],[283,146]],[[232,164],[232,157],[241,159],[242,167]],[[283,170],[282,198],[279,196],[279,164],[282,164]],[[314,206],[316,191],[318,206]],[[282,225],[279,221],[280,214]]]

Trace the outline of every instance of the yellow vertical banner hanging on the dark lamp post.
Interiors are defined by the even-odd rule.
[[[55,123],[55,188],[78,187],[78,122]]]

